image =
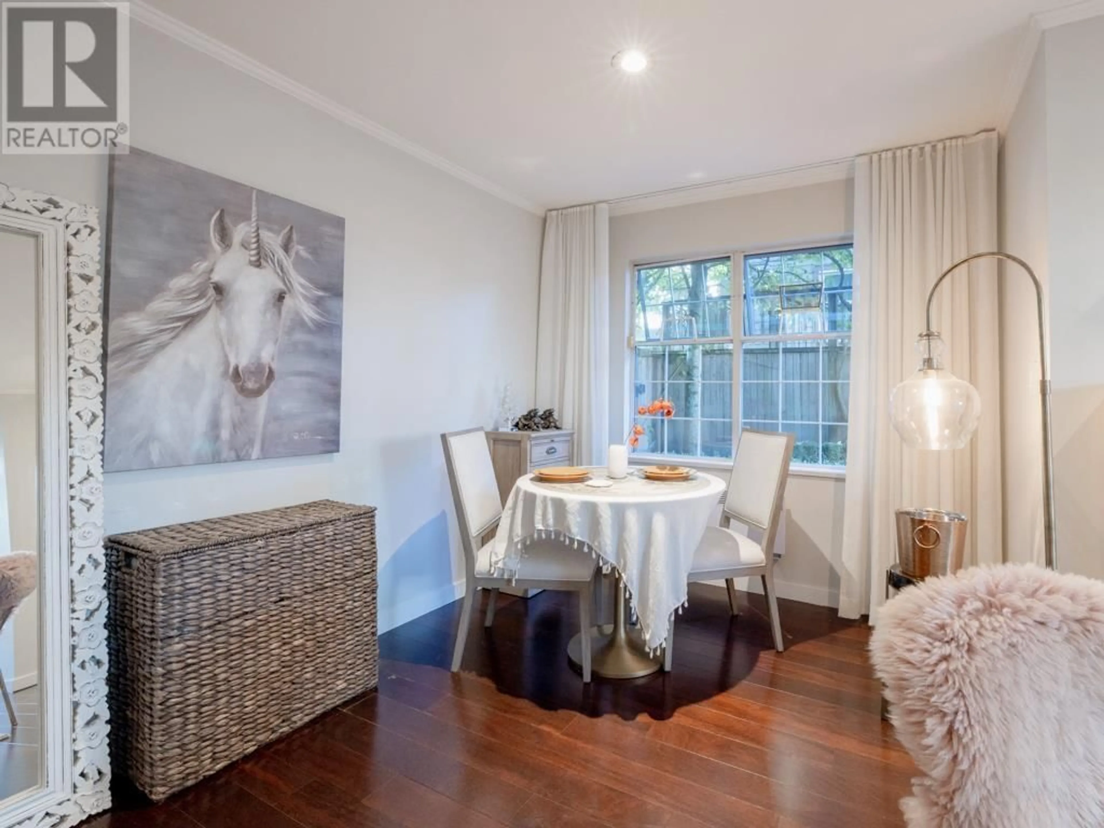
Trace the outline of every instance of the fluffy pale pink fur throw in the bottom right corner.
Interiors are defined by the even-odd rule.
[[[1030,565],[910,586],[874,670],[923,776],[912,828],[1104,826],[1104,582]]]

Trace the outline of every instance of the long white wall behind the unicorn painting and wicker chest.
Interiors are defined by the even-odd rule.
[[[456,597],[438,434],[531,402],[542,221],[135,24],[136,146],[346,219],[341,453],[109,475],[108,532],[336,498],[380,508],[381,629]],[[0,181],[106,206],[99,157]],[[309,562],[305,562],[309,565]]]

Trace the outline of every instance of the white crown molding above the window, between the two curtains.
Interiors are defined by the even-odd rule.
[[[629,195],[609,201],[609,215],[628,215],[651,210],[697,204],[702,201],[720,201],[739,195],[769,192],[772,190],[788,190],[793,187],[822,184],[828,181],[842,181],[854,176],[854,160],[851,158],[824,163],[794,167],[788,170],[763,172],[755,176],[713,181],[709,183],[677,187],[671,190]]]

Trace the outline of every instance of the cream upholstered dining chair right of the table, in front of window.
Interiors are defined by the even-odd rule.
[[[732,477],[723,496],[721,523],[708,527],[693,554],[687,580],[724,581],[729,587],[729,608],[740,614],[736,605],[737,577],[758,575],[763,580],[774,648],[782,652],[782,620],[774,591],[774,537],[782,517],[782,499],[789,477],[789,459],[794,454],[794,435],[756,432],[744,428],[736,444]],[[760,530],[761,542],[732,529],[732,521]],[[673,625],[672,625],[673,627]],[[671,636],[668,637],[665,664],[670,669]]]

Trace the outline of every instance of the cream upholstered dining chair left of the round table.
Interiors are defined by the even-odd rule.
[[[495,622],[498,591],[503,586],[522,590],[562,590],[578,593],[578,620],[582,629],[591,628],[592,584],[595,561],[586,552],[572,549],[556,540],[533,540],[526,546],[516,580],[496,575],[491,569],[491,543],[482,539],[498,527],[502,517],[502,500],[495,480],[487,434],[482,428],[469,428],[440,435],[445,449],[445,466],[453,488],[456,519],[460,524],[460,544],[464,546],[465,588],[460,625],[456,630],[453,650],[453,672],[460,669],[464,645],[476,590],[490,590],[484,626]],[[582,636],[583,681],[591,680],[591,636]]]

